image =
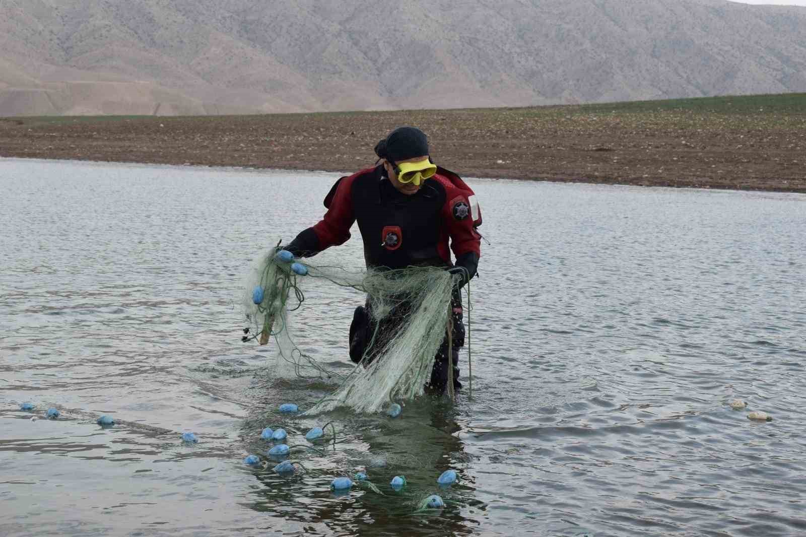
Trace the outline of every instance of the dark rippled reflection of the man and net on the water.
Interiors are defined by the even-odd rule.
[[[301,523],[321,524],[334,532],[357,532],[363,535],[371,528],[394,527],[401,535],[411,532],[425,535],[445,532],[469,535],[474,531],[472,518],[463,514],[467,505],[483,510],[483,502],[473,494],[471,481],[452,487],[441,487],[437,477],[446,469],[462,468],[472,457],[464,450],[457,433],[463,430],[459,408],[447,399],[423,397],[405,406],[400,418],[356,416],[347,410],[316,417],[289,417],[276,411],[277,402],[297,400],[323,386],[310,384],[300,390],[286,382],[273,383],[275,398],[266,399],[260,410],[243,420],[241,427],[246,452],[260,453],[262,468],[247,467],[245,475],[253,476],[260,489],[251,494],[245,505],[271,516]],[[460,405],[459,405],[460,406]],[[336,443],[320,440],[309,443],[304,436],[310,427],[334,423]],[[260,439],[264,427],[283,427],[289,433],[293,448],[289,460],[299,461],[304,468],[293,474],[279,475],[272,468],[284,458],[266,456],[270,441]],[[330,435],[330,427],[328,427]],[[356,472],[366,472],[368,485],[355,481]],[[354,481],[350,493],[330,492],[330,481],[340,475]],[[394,476],[405,476],[404,489],[394,491],[389,482]],[[440,494],[447,503],[441,513],[416,513],[420,502],[432,493]]]

